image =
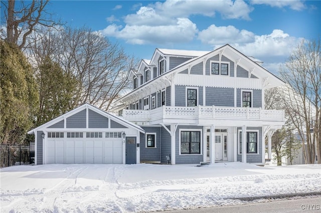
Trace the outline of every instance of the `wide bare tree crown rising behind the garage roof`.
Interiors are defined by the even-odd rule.
[[[88,102],[107,110],[128,88],[127,76],[137,60],[118,44],[85,27],[45,34],[33,44],[32,58],[39,64],[49,56],[76,77],[80,84],[74,91],[75,105]]]

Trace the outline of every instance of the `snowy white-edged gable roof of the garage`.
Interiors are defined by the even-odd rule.
[[[53,125],[56,122],[59,122],[60,120],[62,120],[64,118],[67,118],[67,117],[69,117],[69,116],[71,116],[73,114],[76,114],[77,112],[79,112],[79,111],[81,111],[81,110],[83,110],[83,109],[85,109],[87,107],[90,108],[93,111],[98,112],[98,113],[100,112],[104,116],[112,117],[113,120],[118,120],[124,125],[131,126],[132,128],[135,128],[136,130],[138,130],[138,131],[140,131],[142,133],[145,133],[145,130],[142,129],[139,125],[136,125],[136,124],[134,124],[134,123],[132,123],[132,122],[130,122],[128,120],[125,120],[122,117],[113,115],[113,114],[111,114],[111,113],[109,113],[107,111],[104,111],[104,110],[102,110],[102,109],[100,109],[100,108],[98,108],[98,107],[96,107],[96,106],[94,106],[94,105],[92,105],[90,103],[84,103],[84,104],[74,108],[73,110],[70,110],[70,111],[68,111],[68,112],[66,112],[66,113],[64,113],[64,114],[62,114],[62,115],[60,115],[60,116],[58,116],[58,117],[56,117],[56,118],[54,118],[54,119],[52,119],[52,120],[50,120],[48,122],[36,127],[36,128],[33,128],[33,129],[29,130],[28,134],[33,134],[35,131],[37,131],[39,129],[47,128],[48,126]]]

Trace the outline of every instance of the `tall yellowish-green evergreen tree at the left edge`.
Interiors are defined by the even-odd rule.
[[[33,70],[16,44],[0,40],[0,142],[22,143],[39,102]]]

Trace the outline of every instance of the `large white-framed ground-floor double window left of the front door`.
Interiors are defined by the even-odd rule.
[[[201,131],[181,131],[181,154],[201,153]]]

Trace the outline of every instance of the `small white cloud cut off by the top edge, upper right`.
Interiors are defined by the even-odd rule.
[[[293,10],[302,10],[305,9],[306,6],[302,1],[299,0],[253,0],[250,1],[252,4],[267,4],[272,7],[290,7]]]

